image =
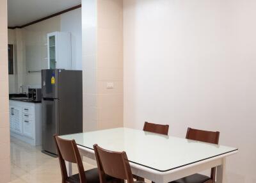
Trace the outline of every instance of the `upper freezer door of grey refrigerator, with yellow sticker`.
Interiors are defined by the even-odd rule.
[[[42,98],[58,99],[59,70],[42,70]]]

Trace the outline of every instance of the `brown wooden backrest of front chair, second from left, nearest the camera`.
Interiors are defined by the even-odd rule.
[[[106,183],[105,175],[134,183],[131,167],[125,152],[113,152],[93,145],[98,169],[100,171],[100,183]]]

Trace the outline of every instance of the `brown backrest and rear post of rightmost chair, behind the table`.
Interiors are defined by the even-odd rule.
[[[206,143],[218,144],[220,132],[202,131],[198,129],[188,128],[186,139],[193,139],[196,141],[203,141]],[[211,179],[215,181],[216,168],[211,169]]]

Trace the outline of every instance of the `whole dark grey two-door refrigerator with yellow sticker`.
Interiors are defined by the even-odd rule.
[[[83,132],[81,70],[42,70],[42,116],[42,152],[54,156],[54,134]]]

